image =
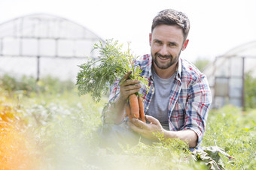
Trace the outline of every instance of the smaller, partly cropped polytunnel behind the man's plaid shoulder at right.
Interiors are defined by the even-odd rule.
[[[236,46],[203,71],[212,90],[212,108],[231,104],[244,107],[245,73],[256,76],[256,41]]]

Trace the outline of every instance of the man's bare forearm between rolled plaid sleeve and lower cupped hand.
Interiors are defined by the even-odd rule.
[[[164,130],[163,135],[166,139],[175,138],[181,139],[187,142],[190,148],[195,148],[197,146],[197,133],[194,130],[180,130],[180,131],[169,131]]]

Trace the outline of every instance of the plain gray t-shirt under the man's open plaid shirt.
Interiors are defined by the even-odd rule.
[[[171,82],[173,81],[174,75],[175,74],[173,74],[169,79],[162,79],[160,76],[157,76],[157,73],[155,73],[154,69],[152,69],[152,76],[154,79],[154,94],[146,114],[157,118],[165,130],[169,130],[168,106],[169,95],[172,89]]]

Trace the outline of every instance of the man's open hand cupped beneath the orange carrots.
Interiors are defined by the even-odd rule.
[[[157,136],[155,136],[154,133],[164,133],[162,125],[156,118],[149,115],[145,115],[145,118],[151,123],[146,124],[139,119],[133,118],[132,121],[128,121],[128,124],[132,128],[132,130],[140,133],[142,136],[148,139],[157,139]]]

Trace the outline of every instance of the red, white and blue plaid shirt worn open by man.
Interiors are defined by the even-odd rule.
[[[151,55],[144,55],[135,64],[142,69],[141,76],[148,79],[150,90],[147,93],[142,86],[144,109],[147,112],[154,95],[154,79],[151,78]],[[111,86],[110,101],[119,94],[118,80]],[[197,146],[203,139],[206,130],[206,120],[212,102],[211,91],[206,76],[190,62],[179,59],[175,78],[169,95],[169,130],[194,130],[198,136]]]

